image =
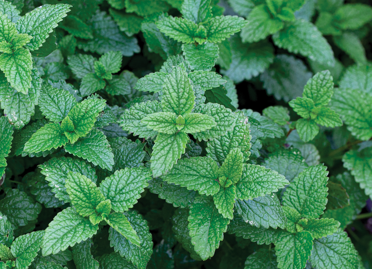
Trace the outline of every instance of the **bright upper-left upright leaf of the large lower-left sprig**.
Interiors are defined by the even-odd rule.
[[[81,174],[68,172],[65,187],[71,204],[83,217],[94,213],[97,205],[105,200],[97,185]]]

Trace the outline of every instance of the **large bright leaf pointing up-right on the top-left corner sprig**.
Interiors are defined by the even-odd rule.
[[[26,49],[34,51],[41,47],[52,29],[57,27],[58,22],[67,16],[70,7],[72,6],[69,4],[45,4],[17,20],[18,32],[33,36],[33,39],[25,45]]]

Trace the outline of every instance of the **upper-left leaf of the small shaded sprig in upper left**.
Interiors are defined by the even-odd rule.
[[[96,59],[89,54],[76,54],[67,57],[68,67],[77,78],[84,78],[89,73],[94,73]]]

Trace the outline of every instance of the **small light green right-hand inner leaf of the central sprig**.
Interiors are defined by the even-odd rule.
[[[215,127],[217,123],[214,118],[200,113],[190,113],[185,115],[185,127],[182,132],[196,133]]]

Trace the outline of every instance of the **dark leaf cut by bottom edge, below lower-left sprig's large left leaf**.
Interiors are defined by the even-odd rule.
[[[76,269],[98,269],[99,263],[93,258],[91,252],[92,239],[88,238],[72,247]]]

